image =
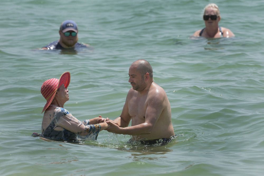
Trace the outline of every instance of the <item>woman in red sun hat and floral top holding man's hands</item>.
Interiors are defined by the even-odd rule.
[[[79,121],[69,111],[63,108],[69,100],[68,85],[70,72],[64,72],[60,79],[46,80],[40,89],[41,94],[47,100],[42,112],[44,112],[41,134],[33,133],[32,136],[41,136],[47,139],[59,141],[96,140],[99,131],[107,129],[105,121],[108,118],[101,116],[90,120]]]

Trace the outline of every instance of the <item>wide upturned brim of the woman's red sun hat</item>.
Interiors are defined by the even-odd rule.
[[[60,79],[59,79],[59,83],[58,83],[58,86],[57,88],[54,90],[54,92],[52,93],[52,96],[47,100],[43,110],[41,113],[43,113],[48,107],[49,105],[51,104],[51,102],[53,101],[54,97],[55,97],[55,94],[57,92],[57,90],[60,88],[60,86],[64,84],[65,88],[67,89],[67,87],[69,86],[70,84],[70,72],[64,72],[61,76],[60,76]]]

